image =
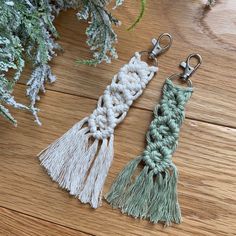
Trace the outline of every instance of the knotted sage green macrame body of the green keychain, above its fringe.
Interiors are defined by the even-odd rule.
[[[179,130],[185,117],[185,105],[193,88],[179,87],[167,79],[160,104],[154,109],[154,119],[146,135],[147,146],[143,161],[154,174],[175,168],[172,162],[179,138]]]

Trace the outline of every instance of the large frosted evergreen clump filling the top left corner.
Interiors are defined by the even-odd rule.
[[[55,54],[54,50],[59,48],[53,39],[57,32],[52,11],[47,0],[0,1],[0,114],[13,124],[16,120],[6,106],[31,111],[39,123],[34,106],[38,99],[37,87],[42,89],[48,78],[36,74],[41,73]],[[30,61],[33,70],[28,82],[31,86],[27,89],[31,101],[28,106],[17,103],[12,96],[26,61]]]

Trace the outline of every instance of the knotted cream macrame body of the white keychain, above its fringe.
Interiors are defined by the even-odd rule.
[[[139,53],[120,69],[88,119],[88,127],[95,139],[105,139],[114,133],[116,125],[124,119],[156,71],[157,67],[141,61]]]

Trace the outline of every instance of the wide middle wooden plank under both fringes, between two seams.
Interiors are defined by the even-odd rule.
[[[94,211],[58,189],[39,166],[36,154],[88,115],[94,105],[93,99],[75,100],[73,95],[48,92],[40,103],[43,129],[29,124],[28,114],[20,115],[17,129],[2,126],[2,137],[11,134],[11,138],[1,140],[1,206],[94,235],[234,234],[236,130],[232,128],[186,119],[174,156],[180,171],[181,225],[163,229],[124,216],[106,203]],[[149,111],[132,108],[117,128],[115,160],[105,192],[119,170],[142,151],[151,116]]]

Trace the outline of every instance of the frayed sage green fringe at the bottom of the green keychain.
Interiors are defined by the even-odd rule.
[[[106,200],[122,213],[135,218],[144,218],[153,223],[181,222],[181,212],[177,197],[177,168],[154,174],[144,167],[132,180],[140,157],[131,161],[115,180]]]

